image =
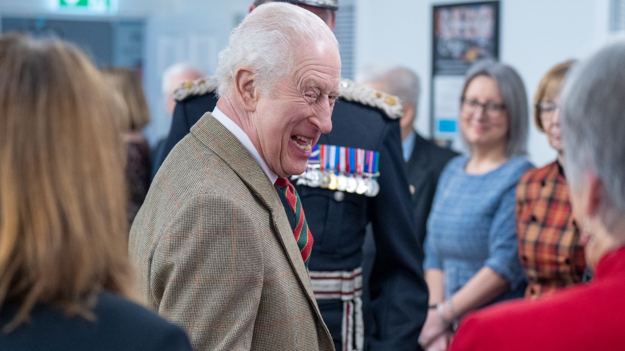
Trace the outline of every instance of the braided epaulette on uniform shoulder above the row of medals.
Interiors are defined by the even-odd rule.
[[[398,119],[404,114],[399,97],[356,84],[349,79],[341,80],[341,99],[381,109],[390,119]]]

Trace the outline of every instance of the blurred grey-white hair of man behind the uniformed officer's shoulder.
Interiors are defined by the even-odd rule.
[[[408,67],[369,65],[356,75],[359,83],[381,83],[386,86],[386,93],[399,97],[402,102],[414,106],[419,104],[421,85],[419,76]]]

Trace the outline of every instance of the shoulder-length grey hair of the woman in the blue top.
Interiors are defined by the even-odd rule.
[[[491,78],[497,84],[499,95],[506,106],[508,133],[506,140],[506,156],[526,154],[527,132],[529,129],[527,114],[527,94],[521,76],[514,68],[492,60],[476,62],[466,73],[462,97],[469,83],[477,76]],[[464,139],[464,135],[462,135]],[[466,143],[466,139],[464,139]]]

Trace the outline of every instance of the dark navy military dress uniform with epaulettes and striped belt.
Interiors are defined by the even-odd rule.
[[[216,86],[216,79],[207,77],[184,83],[176,91],[178,103],[164,157],[204,112],[214,109]],[[427,286],[401,152],[401,104],[394,96],[353,82],[342,81],[341,89],[332,112],[332,131],[322,134],[317,145],[345,151],[344,159],[337,154],[343,164],[351,160],[353,165],[348,155],[357,151],[375,157],[376,174],[369,187],[377,189],[359,194],[318,184],[311,187],[306,174],[301,176],[304,181],[292,180],[314,237],[309,260],[312,288],[337,350],[415,350],[427,313]],[[318,163],[311,161],[311,168]],[[369,345],[364,345],[361,265],[368,224],[377,247],[369,281],[376,329],[367,337]]]

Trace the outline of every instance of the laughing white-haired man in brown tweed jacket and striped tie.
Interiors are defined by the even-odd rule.
[[[336,38],[300,7],[259,6],[232,31],[217,75],[216,108],[171,151],[131,229],[145,302],[195,350],[334,350],[286,177],[331,130]]]

